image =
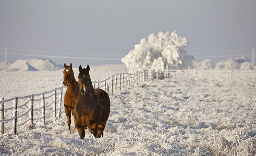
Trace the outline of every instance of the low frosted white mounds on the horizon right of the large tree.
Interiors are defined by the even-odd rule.
[[[202,62],[196,62],[196,68],[199,70],[256,70],[256,67],[252,66],[251,61],[244,56],[229,58],[216,64],[210,59],[206,59]]]

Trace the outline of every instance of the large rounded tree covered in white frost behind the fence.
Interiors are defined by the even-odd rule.
[[[187,38],[179,37],[176,31],[165,34],[150,34],[148,42],[145,38],[140,44],[135,45],[124,58],[121,59],[130,71],[140,71],[145,68],[162,70],[169,69],[192,69],[194,58],[186,51]]]

